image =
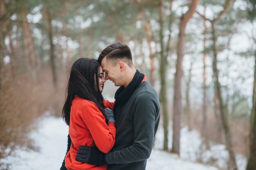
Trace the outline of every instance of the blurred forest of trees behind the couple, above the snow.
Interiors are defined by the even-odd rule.
[[[180,154],[187,126],[202,150],[225,144],[226,169],[241,154],[255,170],[255,17],[255,0],[0,0],[0,159],[34,147],[45,111],[61,116],[76,59],[121,41],[159,94],[164,150]]]

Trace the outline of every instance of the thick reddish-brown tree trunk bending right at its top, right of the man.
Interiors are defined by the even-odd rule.
[[[177,63],[174,80],[174,99],[173,99],[173,148],[172,152],[180,155],[180,122],[181,122],[181,79],[182,79],[182,61],[184,56],[185,29],[186,24],[193,16],[199,0],[192,0],[187,11],[180,19],[179,40],[177,45]]]

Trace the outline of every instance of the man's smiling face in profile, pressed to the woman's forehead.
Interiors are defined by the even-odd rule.
[[[101,61],[101,67],[103,72],[105,72],[105,79],[110,80],[113,83],[115,83],[115,86],[122,86],[123,84],[121,83],[121,70],[119,68],[118,63],[113,66],[106,57],[103,58]]]

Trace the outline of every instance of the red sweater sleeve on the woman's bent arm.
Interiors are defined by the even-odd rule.
[[[115,144],[116,129],[113,122],[106,124],[105,117],[94,102],[83,101],[80,118],[88,127],[99,150],[108,153]]]

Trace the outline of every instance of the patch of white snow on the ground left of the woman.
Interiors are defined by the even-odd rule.
[[[38,129],[30,137],[38,150],[20,148],[0,160],[10,163],[10,170],[58,170],[61,167],[67,150],[68,126],[61,118],[51,116],[40,118],[37,123]]]

